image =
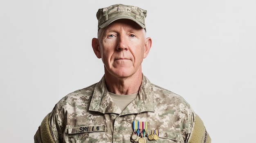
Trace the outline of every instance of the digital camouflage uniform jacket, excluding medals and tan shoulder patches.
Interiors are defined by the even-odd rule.
[[[63,97],[49,120],[56,143],[131,143],[132,121],[146,121],[148,134],[159,131],[159,139],[148,143],[185,143],[193,115],[182,97],[151,84],[144,75],[138,96],[121,111],[103,76],[99,83]]]

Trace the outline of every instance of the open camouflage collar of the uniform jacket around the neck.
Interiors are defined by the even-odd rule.
[[[141,112],[155,111],[155,97],[153,86],[150,81],[143,75],[138,96],[123,110],[112,101],[106,87],[105,77],[95,85],[95,89],[90,102],[90,111],[115,114],[137,114]]]

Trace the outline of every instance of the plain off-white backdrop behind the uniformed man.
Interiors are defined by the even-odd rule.
[[[213,143],[254,142],[255,0],[1,0],[0,142],[34,142],[62,97],[101,79],[96,12],[117,3],[148,11],[144,75],[184,97]]]

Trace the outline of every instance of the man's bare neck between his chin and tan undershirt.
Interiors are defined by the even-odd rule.
[[[139,91],[142,82],[141,69],[129,77],[115,77],[105,71],[105,80],[109,92],[130,95]]]

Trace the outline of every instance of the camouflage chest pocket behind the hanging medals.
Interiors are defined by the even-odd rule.
[[[148,130],[148,133],[150,132],[152,132],[152,130]],[[184,143],[182,135],[175,132],[159,131],[158,137],[158,140],[148,140],[148,143]]]

